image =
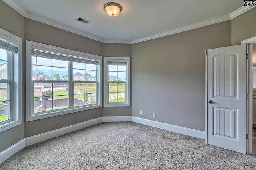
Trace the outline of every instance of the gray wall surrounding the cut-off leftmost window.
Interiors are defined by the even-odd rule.
[[[0,0],[0,28],[24,39],[24,18],[10,6]],[[24,41],[22,42],[24,44]],[[25,54],[25,46],[23,46],[23,54]],[[23,74],[24,72],[24,55],[23,55]],[[23,82],[23,89],[25,84]],[[24,91],[24,90],[23,90]],[[25,98],[23,98],[25,100]],[[25,113],[23,109],[23,113]],[[24,114],[23,114],[24,115]],[[23,120],[24,122],[24,116]],[[18,141],[24,139],[24,123],[12,129],[0,133],[0,152],[14,145]]]

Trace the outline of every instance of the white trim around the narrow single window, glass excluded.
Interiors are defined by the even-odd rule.
[[[110,103],[108,102],[108,61],[127,61],[126,71],[126,96],[127,101],[124,103]],[[130,57],[105,57],[104,58],[104,107],[130,107]]]

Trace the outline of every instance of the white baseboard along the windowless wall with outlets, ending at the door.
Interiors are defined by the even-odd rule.
[[[195,130],[195,129],[190,129],[190,128],[186,128],[186,127],[171,125],[171,124],[162,123],[162,122],[159,122],[159,121],[152,121],[152,120],[143,119],[143,118],[134,117],[134,116],[132,116],[132,121],[136,122],[136,123],[141,123],[141,124],[144,124],[144,125],[152,126],[152,127],[157,127],[157,128],[164,129],[164,130],[167,130],[167,131],[172,131],[172,132],[181,133],[181,134],[192,136],[192,137],[205,139],[205,132],[204,131],[198,131],[198,130]]]

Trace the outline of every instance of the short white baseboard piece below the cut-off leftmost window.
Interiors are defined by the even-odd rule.
[[[10,158],[12,155],[16,154],[18,151],[20,151],[24,147],[25,147],[25,139],[22,139],[19,142],[12,145],[11,147],[2,151],[0,153],[0,164],[2,164],[5,160]]]

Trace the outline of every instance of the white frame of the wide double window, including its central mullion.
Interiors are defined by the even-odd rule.
[[[41,114],[39,113],[34,113],[34,80],[32,80],[32,55],[31,55],[31,49],[36,49],[38,50],[44,50],[44,51],[49,51],[53,53],[61,53],[64,55],[72,55],[72,56],[77,56],[77,57],[83,57],[86,59],[94,59],[99,61],[98,70],[96,72],[98,81],[95,81],[96,86],[97,86],[97,102],[96,104],[92,105],[82,105],[82,106],[72,106],[70,103],[70,98],[74,96],[74,83],[75,82],[80,82],[80,81],[73,81],[72,75],[70,74],[70,70],[73,69],[72,66],[69,67],[69,80],[53,80],[54,82],[68,82],[69,87],[68,87],[68,108],[64,109],[56,109],[56,110],[51,110],[51,111],[44,111]],[[71,63],[69,62],[69,65]],[[26,121],[33,121],[33,120],[38,120],[38,119],[44,119],[48,117],[54,117],[58,115],[65,115],[69,113],[75,113],[78,111],[85,111],[89,109],[95,109],[102,107],[102,85],[101,85],[101,80],[102,80],[102,56],[99,55],[93,55],[89,53],[84,53],[80,51],[74,51],[70,49],[65,49],[61,47],[55,47],[52,45],[46,45],[42,43],[37,43],[33,41],[26,41]],[[40,80],[40,82],[48,82],[45,80]],[[84,81],[81,81],[84,82]]]

